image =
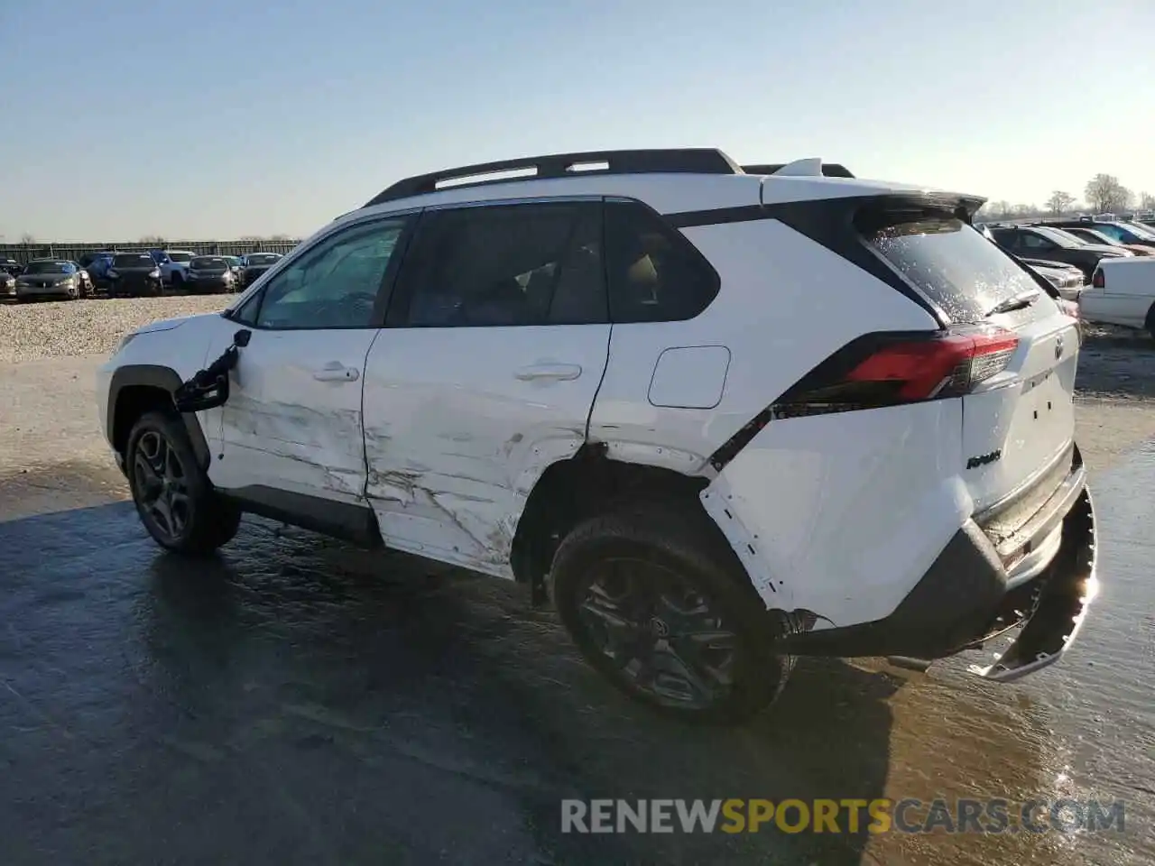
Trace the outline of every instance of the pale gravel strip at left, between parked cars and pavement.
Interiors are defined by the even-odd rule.
[[[128,331],[223,309],[233,294],[0,304],[0,361],[109,354]]]

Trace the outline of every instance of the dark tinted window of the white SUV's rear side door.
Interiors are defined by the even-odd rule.
[[[605,322],[601,202],[430,212],[405,255],[389,323],[502,327]]]

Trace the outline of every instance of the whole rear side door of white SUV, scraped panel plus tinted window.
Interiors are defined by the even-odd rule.
[[[546,466],[586,441],[610,339],[601,200],[427,209],[365,368],[386,543],[511,576]]]

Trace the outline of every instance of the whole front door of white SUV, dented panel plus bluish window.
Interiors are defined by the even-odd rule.
[[[364,507],[365,357],[383,321],[410,222],[378,217],[336,229],[239,308],[252,335],[228,403],[203,421],[216,487],[321,517],[338,516],[326,502]],[[210,359],[224,349],[214,346]]]

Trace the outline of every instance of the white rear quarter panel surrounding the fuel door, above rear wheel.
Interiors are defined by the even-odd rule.
[[[714,264],[723,288],[690,321],[613,326],[590,439],[606,442],[619,460],[701,473],[720,446],[840,345],[872,330],[936,327],[921,307],[775,219],[683,233]],[[662,352],[710,343],[731,356],[716,406],[639,400]]]

